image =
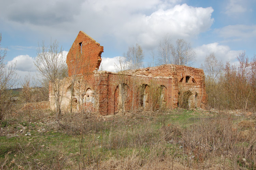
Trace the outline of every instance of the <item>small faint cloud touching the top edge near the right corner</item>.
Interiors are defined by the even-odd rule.
[[[239,15],[247,11],[247,5],[244,0],[229,0],[225,13],[229,16]]]

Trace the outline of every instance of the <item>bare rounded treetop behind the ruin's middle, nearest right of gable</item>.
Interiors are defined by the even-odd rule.
[[[144,52],[139,44],[130,46],[124,57],[129,63],[129,69],[139,69],[143,66]]]

